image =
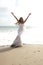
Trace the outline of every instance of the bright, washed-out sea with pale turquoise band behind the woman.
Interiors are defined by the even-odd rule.
[[[17,26],[0,26],[0,46],[11,45],[17,34]],[[25,26],[21,41],[23,44],[43,44],[43,28]]]

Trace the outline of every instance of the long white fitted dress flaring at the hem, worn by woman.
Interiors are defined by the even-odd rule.
[[[18,35],[16,39],[13,41],[13,44],[11,45],[11,47],[22,46],[21,34],[23,32],[23,27],[24,27],[24,24],[18,24]]]

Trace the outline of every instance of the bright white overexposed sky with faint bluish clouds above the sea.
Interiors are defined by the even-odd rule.
[[[43,0],[0,0],[0,26],[13,26],[15,18],[24,18],[31,12],[25,25],[43,27]]]

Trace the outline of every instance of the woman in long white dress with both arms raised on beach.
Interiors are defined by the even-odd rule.
[[[31,13],[29,13],[29,15],[27,16],[27,18],[25,20],[23,20],[22,17],[20,17],[20,19],[17,19],[17,17],[14,15],[13,12],[11,12],[11,14],[15,17],[15,19],[17,20],[17,23],[18,26],[19,26],[19,29],[18,29],[18,35],[16,37],[16,39],[14,40],[13,44],[11,45],[11,47],[21,47],[22,46],[22,42],[21,42],[21,34],[23,32],[23,26],[24,26],[24,23],[27,21],[28,17],[31,15]]]

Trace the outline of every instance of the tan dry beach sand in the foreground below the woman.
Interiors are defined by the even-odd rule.
[[[0,65],[43,65],[43,45],[0,47]]]

